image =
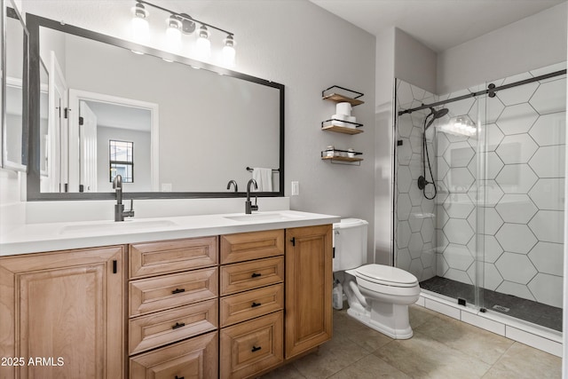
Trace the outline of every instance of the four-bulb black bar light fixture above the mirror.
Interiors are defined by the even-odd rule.
[[[172,12],[169,9],[148,3],[145,0],[136,0],[136,5],[132,8],[132,12],[134,13],[132,27],[136,40],[142,41],[143,39],[147,39],[149,28],[148,21],[146,19],[148,18],[149,13],[146,11],[145,6],[153,7],[170,14],[170,17],[167,19],[168,28],[166,30],[166,35],[171,50],[179,51],[181,49],[182,36],[191,35],[197,29],[197,41],[195,42],[196,54],[200,59],[209,59],[211,55],[209,29],[214,29],[225,35],[225,39],[223,40],[223,51],[222,54],[220,54],[223,57],[224,65],[226,67],[234,66],[236,52],[234,49],[234,35],[232,32],[222,28],[217,28],[206,22],[193,19],[193,17],[186,13]],[[143,24],[146,26],[142,26]],[[198,24],[199,28],[197,28]]]

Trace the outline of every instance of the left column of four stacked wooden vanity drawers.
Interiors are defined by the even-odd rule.
[[[130,378],[217,378],[217,241],[130,245]]]

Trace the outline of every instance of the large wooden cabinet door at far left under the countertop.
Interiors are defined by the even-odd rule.
[[[0,377],[123,377],[123,257],[118,246],[0,259],[0,356],[25,361]]]

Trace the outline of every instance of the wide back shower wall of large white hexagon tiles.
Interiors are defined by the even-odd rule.
[[[565,67],[564,62],[493,83],[514,83]],[[565,86],[563,75],[486,99],[480,112],[485,118],[485,179],[479,186],[476,139],[438,133],[438,276],[474,282],[474,205],[477,193],[485,190],[481,286],[562,307]],[[483,100],[447,104],[448,117],[469,114],[477,122],[479,102]]]

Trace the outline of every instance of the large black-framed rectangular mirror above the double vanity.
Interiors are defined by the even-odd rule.
[[[134,198],[239,197],[256,169],[258,194],[283,196],[282,84],[27,21],[28,200],[112,198],[116,174]]]

